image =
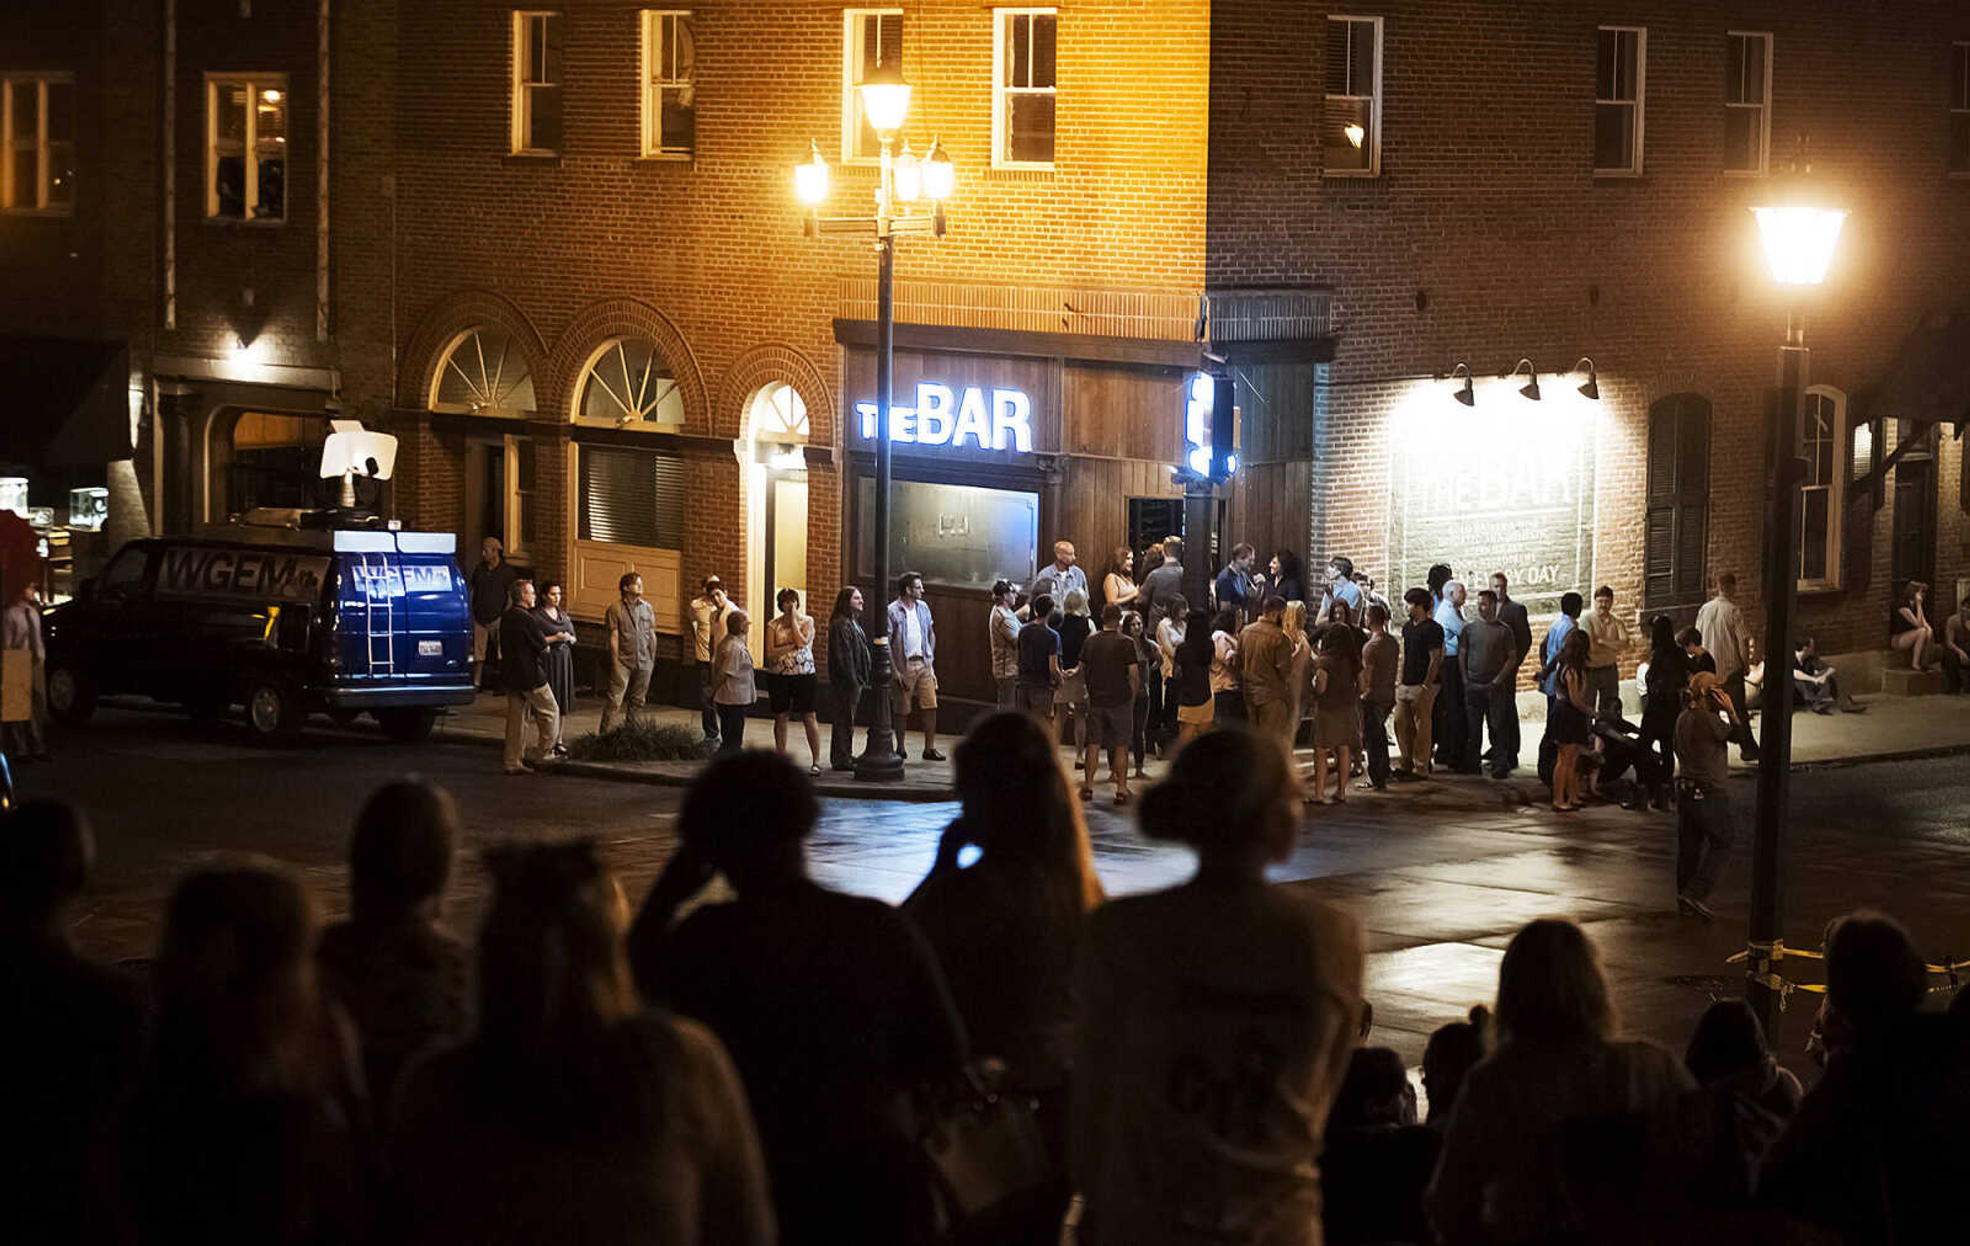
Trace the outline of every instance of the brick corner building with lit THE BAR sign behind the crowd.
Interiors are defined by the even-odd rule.
[[[940,138],[957,191],[944,238],[898,246],[896,565],[928,573],[959,695],[989,687],[993,579],[1056,535],[1097,577],[1182,522],[1215,360],[1229,539],[1389,589],[1499,569],[1535,614],[1598,583],[1688,614],[1722,571],[1753,604],[1787,309],[1743,209],[1799,132],[1854,209],[1808,307],[1801,628],[1877,652],[1901,581],[1940,614],[1966,569],[1960,425],[1933,423],[1970,405],[1970,18],[1944,0],[100,0],[33,45],[73,12],[0,18],[0,71],[75,65],[81,171],[67,217],[0,217],[30,274],[0,319],[128,343],[164,526],[292,492],[335,398],[402,437],[406,522],[500,535],[577,618],[630,567],[670,636],[707,573],[825,612],[873,561],[875,266],[802,234],[790,169],[814,140],[829,211],[861,211],[851,85],[898,63],[902,138]],[[282,161],[278,222],[248,142]]]

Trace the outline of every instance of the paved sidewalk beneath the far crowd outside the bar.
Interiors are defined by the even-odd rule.
[[[1897,758],[1923,758],[1950,752],[1970,752],[1970,697],[1860,697],[1868,707],[1864,715],[1793,715],[1793,770],[1816,766],[1850,766],[1858,762],[1881,762]],[[1531,709],[1537,705],[1537,713]],[[1533,789],[1543,791],[1533,778],[1531,760],[1537,756],[1539,736],[1544,732],[1544,703],[1535,697],[1519,699],[1525,748],[1521,756],[1521,779],[1531,778]],[[656,707],[644,711],[646,718],[674,722],[678,726],[697,726],[697,713],[678,707]],[[567,716],[565,740],[593,732],[601,724],[601,699],[579,697],[575,713]],[[1753,730],[1757,715],[1753,713]],[[506,732],[506,697],[481,695],[477,703],[449,711],[437,726],[441,738],[498,746]],[[922,748],[922,732],[912,730],[908,738],[910,760],[904,764],[900,783],[857,783],[855,776],[827,770],[827,724],[821,724],[821,778],[816,789],[825,797],[863,801],[948,801],[952,799],[950,762],[924,762],[916,758]],[[865,728],[857,728],[857,750]],[[938,738],[938,750],[950,756],[959,734]],[[772,718],[747,718],[745,742],[749,748],[772,748]],[[788,750],[796,762],[806,760],[808,742],[796,722],[788,724]],[[1732,768],[1751,772],[1732,750]],[[1300,750],[1302,770],[1308,750]],[[605,778],[666,787],[684,787],[691,781],[703,762],[563,762],[563,774],[585,778]],[[1103,768],[1107,762],[1103,760]],[[1147,766],[1150,781],[1162,778],[1164,762],[1150,760]],[[1105,774],[1105,772],[1103,772]],[[1531,791],[1531,789],[1529,789]],[[1107,787],[1101,789],[1107,799]]]

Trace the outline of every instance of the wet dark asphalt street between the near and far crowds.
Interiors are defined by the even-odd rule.
[[[682,791],[573,776],[498,774],[477,744],[396,744],[355,726],[309,730],[297,748],[260,748],[240,724],[108,707],[55,736],[55,760],[22,766],[22,797],[85,805],[98,868],[77,935],[110,959],[142,959],[164,898],[203,860],[258,852],[290,862],[327,913],[345,905],[343,844],[382,781],[422,774],[459,799],[467,827],[447,919],[473,929],[485,905],[475,848],[510,835],[595,835],[632,902],[674,848]],[[1483,779],[1412,785],[1308,813],[1292,860],[1275,870],[1353,911],[1369,931],[1377,1041],[1420,1055],[1428,1029],[1489,1000],[1511,931],[1566,913],[1602,945],[1629,1029],[1680,1047],[1710,992],[1736,992],[1724,957],[1743,947],[1751,783],[1732,785],[1738,850],[1718,921],[1673,909],[1673,819],[1619,809],[1556,817]],[[1970,762],[1935,758],[1795,774],[1789,931],[1816,947],[1824,921],[1858,905],[1903,917],[1933,959],[1970,957]],[[930,866],[952,805],[829,801],[812,846],[831,886],[900,900]],[[1111,894],[1188,876],[1184,850],[1150,844],[1133,819],[1091,811]],[[1816,978],[1810,966],[1799,970]],[[1814,1000],[1803,998],[1810,1012]],[[1805,1039],[1787,1028],[1787,1049]]]

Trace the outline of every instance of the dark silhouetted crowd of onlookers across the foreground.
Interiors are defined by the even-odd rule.
[[[453,935],[465,827],[412,779],[357,821],[347,917],[325,925],[278,862],[203,862],[134,970],[73,939],[87,819],[6,815],[10,1238],[1056,1246],[1064,1220],[1085,1246],[1960,1236],[1970,994],[1931,1004],[1889,917],[1826,935],[1810,1089],[1738,1002],[1680,1057],[1623,1035],[1594,941],[1533,921],[1495,998],[1430,1035],[1424,1116],[1373,1045],[1361,927],[1267,884],[1302,817],[1273,740],[1235,724],[1174,758],[1141,829],[1196,872],[1121,900],[1032,715],[987,716],[955,752],[959,813],[900,907],[818,884],[812,778],[739,752],[686,795],[634,909],[597,841],[492,842],[483,925]],[[926,1108],[950,1085],[989,1085],[1032,1126],[1017,1161],[973,1152],[973,1201],[940,1167],[965,1126]]]

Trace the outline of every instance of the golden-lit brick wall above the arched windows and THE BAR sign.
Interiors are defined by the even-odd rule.
[[[1054,173],[989,169],[991,12],[953,0],[904,8],[902,71],[916,87],[906,136],[918,152],[942,136],[957,193],[950,234],[902,240],[898,276],[1202,287],[1206,0],[1062,12]],[[841,8],[717,0],[693,10],[695,161],[636,159],[636,10],[599,2],[561,6],[565,140],[558,159],[538,161],[506,157],[510,8],[406,6],[400,405],[424,402],[435,352],[483,315],[485,299],[467,291],[491,291],[538,333],[544,417],[565,419],[589,352],[634,329],[660,341],[686,388],[686,433],[741,441],[745,402],[784,380],[808,404],[812,441],[839,443],[837,281],[869,276],[873,254],[867,242],[802,236],[790,169],[816,138],[837,163],[833,211],[863,211],[875,185],[871,171],[837,161]],[[751,604],[739,457],[717,443],[688,451],[684,587],[715,571]],[[422,463],[418,486],[443,490],[451,463]],[[542,506],[567,510],[558,482],[544,484]],[[427,506],[420,514],[439,518]],[[810,467],[808,516],[820,610],[841,579],[833,465]]]

